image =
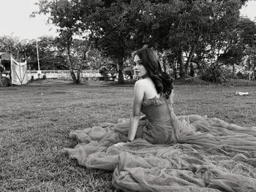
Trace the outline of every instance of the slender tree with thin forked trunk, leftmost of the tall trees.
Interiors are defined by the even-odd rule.
[[[58,0],[58,1],[39,1],[39,11],[36,14],[48,14],[48,22],[54,23],[59,27],[59,44],[64,47],[64,52],[69,64],[69,72],[74,83],[80,83],[80,68],[77,77],[74,72],[74,65],[70,55],[73,36],[80,33],[82,23],[80,19],[80,5],[78,1]]]

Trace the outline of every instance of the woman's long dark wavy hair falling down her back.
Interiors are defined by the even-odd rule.
[[[173,80],[169,74],[162,71],[157,53],[151,48],[143,47],[135,51],[133,56],[135,55],[138,55],[143,66],[145,66],[148,76],[156,86],[157,93],[165,93],[166,99],[168,99],[173,90]]]

